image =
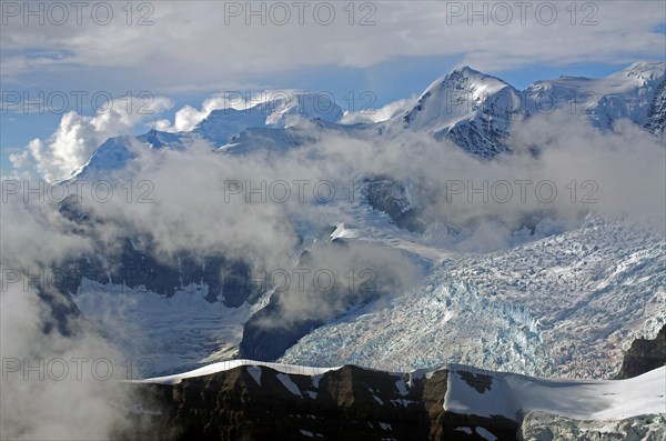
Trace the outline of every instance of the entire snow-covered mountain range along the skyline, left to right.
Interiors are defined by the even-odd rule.
[[[435,80],[404,114],[353,126],[339,123],[342,109],[329,94],[274,94],[243,108],[213,110],[190,131],[153,129],[139,137],[112,138],[73,176],[83,178],[122,168],[135,158],[131,141],[159,150],[203,140],[228,152],[246,152],[258,146],[299,146],[312,140],[311,121],[321,121],[320,129],[374,138],[376,142],[406,132],[428,133],[483,158],[507,150],[505,138],[516,121],[556,109],[588,116],[601,130],[610,130],[617,120],[628,119],[659,136],[666,121],[665,72],[665,62],[636,62],[606,78],[559,77],[518,91],[498,78],[464,67]]]

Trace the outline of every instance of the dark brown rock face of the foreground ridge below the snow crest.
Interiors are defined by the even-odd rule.
[[[347,365],[313,378],[239,367],[174,385],[128,384],[142,389],[143,409],[161,413],[148,433],[118,438],[483,440],[475,429],[484,428],[498,440],[515,439],[516,421],[445,411],[447,375],[410,379]]]

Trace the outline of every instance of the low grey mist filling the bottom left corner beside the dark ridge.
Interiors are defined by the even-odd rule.
[[[0,352],[7,378],[0,397],[0,435],[22,440],[109,438],[111,427],[122,425],[123,407],[132,404],[132,398],[118,387],[121,353],[90,330],[75,337],[44,333],[42,318],[49,310],[34,291],[20,287],[12,285],[1,295]],[[98,378],[92,373],[95,362]],[[111,363],[114,378],[105,379]]]

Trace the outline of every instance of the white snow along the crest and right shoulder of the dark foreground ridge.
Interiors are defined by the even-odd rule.
[[[243,365],[266,367],[282,374],[309,377],[342,369],[232,360],[175,375],[133,382],[178,384],[183,379],[209,375]],[[453,364],[435,370],[420,370],[413,374],[430,377],[442,369],[450,371],[444,409],[458,414],[487,418],[501,415],[519,421],[527,412],[544,412],[574,420],[614,421],[666,412],[666,367],[627,380],[545,379]],[[377,371],[377,374],[402,375],[382,371]],[[407,393],[406,389],[404,393]]]

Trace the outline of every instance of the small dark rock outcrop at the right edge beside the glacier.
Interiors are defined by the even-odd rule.
[[[616,379],[638,377],[663,365],[666,365],[666,325],[654,340],[634,340]]]

